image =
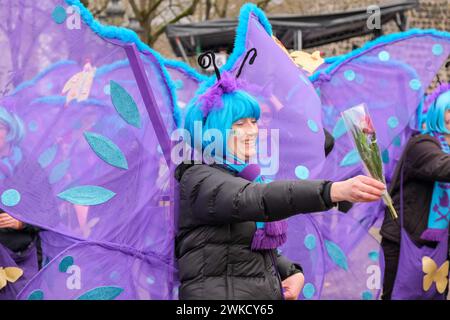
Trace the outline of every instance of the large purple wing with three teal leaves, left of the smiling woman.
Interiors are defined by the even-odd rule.
[[[0,38],[6,52],[0,106],[23,125],[22,140],[0,146],[11,150],[0,179],[2,208],[48,230],[43,233],[47,265],[81,242],[70,254],[94,270],[95,259],[83,257],[100,249],[84,241],[110,245],[99,254],[112,266],[136,259],[147,269],[162,261],[158,270],[167,274],[147,296],[136,292],[133,281],[122,285],[121,296],[172,298],[173,168],[160,145],[160,137],[167,136],[167,144],[167,133],[175,128],[170,79],[135,34],[101,26],[79,1],[0,3],[0,26],[6,30]],[[152,58],[144,61],[135,45]],[[154,101],[143,94],[147,83]],[[118,247],[133,254],[118,254]],[[42,290],[44,298],[72,298],[63,282],[55,280],[60,291],[46,284],[58,275],[44,268],[27,290]],[[83,288],[103,285],[102,279],[93,276]]]

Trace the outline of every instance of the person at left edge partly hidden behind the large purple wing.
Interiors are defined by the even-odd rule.
[[[24,135],[22,120],[0,107],[0,179],[9,179],[21,171],[25,159],[19,145]],[[33,171],[36,174],[38,168]],[[7,284],[0,287],[0,300],[15,299],[18,290],[38,271],[39,265],[38,229],[15,219],[6,211],[0,207],[0,267],[12,267],[10,264],[15,263],[23,271],[23,276],[17,287]]]

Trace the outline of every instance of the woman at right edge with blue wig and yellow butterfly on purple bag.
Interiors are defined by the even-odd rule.
[[[408,141],[390,186],[401,214],[400,221],[393,221],[386,213],[381,228],[385,255],[383,299],[445,298],[450,219],[450,85],[440,85],[427,97],[425,107],[428,112],[422,134]]]

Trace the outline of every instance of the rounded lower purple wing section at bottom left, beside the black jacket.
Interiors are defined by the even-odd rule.
[[[173,272],[158,256],[142,254],[130,247],[83,241],[67,248],[47,264],[18,298],[167,299],[172,294]]]

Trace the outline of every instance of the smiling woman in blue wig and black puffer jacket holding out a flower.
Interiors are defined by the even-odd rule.
[[[296,300],[304,282],[302,268],[277,251],[287,237],[284,219],[329,210],[341,201],[376,201],[385,189],[365,176],[336,183],[268,182],[261,176],[251,163],[257,153],[260,107],[239,79],[252,53],[252,63],[255,49],[247,53],[236,77],[220,74],[214,65],[217,83],[186,114],[192,146],[207,151],[208,141],[195,136],[199,126],[220,147],[212,153],[214,163],[183,163],[175,172],[180,182],[180,299]],[[200,56],[199,63],[214,64],[213,54]]]

